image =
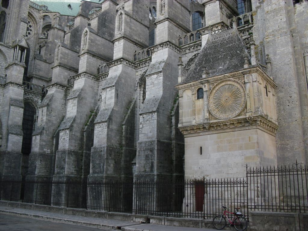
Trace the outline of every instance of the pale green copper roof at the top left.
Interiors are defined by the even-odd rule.
[[[45,5],[52,12],[76,16],[79,12],[80,0],[31,0],[38,5]]]

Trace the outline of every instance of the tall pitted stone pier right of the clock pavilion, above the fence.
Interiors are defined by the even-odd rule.
[[[261,4],[262,7],[264,7],[264,17],[267,22],[264,25],[265,52],[271,55],[273,80],[278,85],[276,92],[278,125],[280,126],[276,136],[278,162],[289,163],[294,159],[305,162],[306,134],[304,135],[302,120],[306,112],[301,107],[306,105],[306,96],[303,96],[306,95],[307,90],[301,89],[300,85],[304,86],[300,84],[302,80],[298,78],[303,74],[299,75],[296,69],[298,64],[294,45],[297,46],[297,44],[290,30],[294,23],[294,16],[291,14],[289,17],[286,14],[289,7],[293,9],[293,3],[292,1],[265,1]],[[268,34],[272,36],[266,36]]]

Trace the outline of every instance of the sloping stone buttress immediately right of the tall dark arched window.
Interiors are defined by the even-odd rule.
[[[27,179],[46,180],[54,173],[54,136],[66,111],[65,86],[53,84],[47,87],[47,95],[39,105],[38,126],[32,133]]]

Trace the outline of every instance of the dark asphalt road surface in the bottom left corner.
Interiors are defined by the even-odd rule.
[[[98,231],[113,230],[85,225],[58,223],[44,219],[0,213],[1,231]]]

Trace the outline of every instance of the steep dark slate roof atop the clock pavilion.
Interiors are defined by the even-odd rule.
[[[236,30],[212,35],[179,85],[202,79],[204,68],[209,73],[207,78],[243,70],[245,55],[249,57]]]

